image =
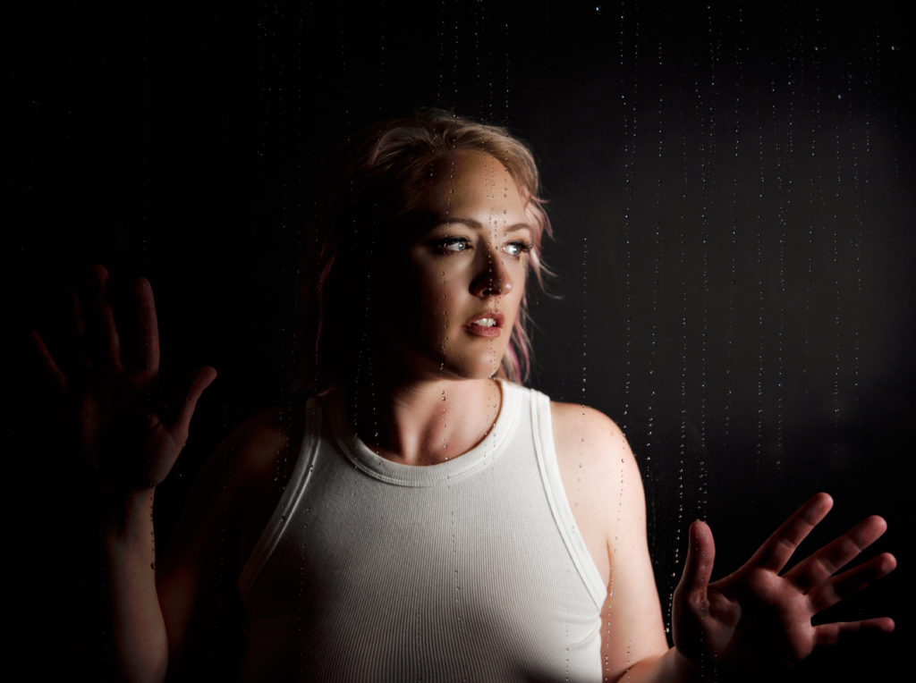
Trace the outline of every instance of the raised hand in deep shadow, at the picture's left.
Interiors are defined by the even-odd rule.
[[[94,266],[70,302],[66,345],[55,360],[36,331],[29,341],[55,396],[58,422],[78,466],[108,503],[150,492],[169,474],[188,438],[191,416],[212,367],[198,368],[175,396],[159,377],[156,305],[137,278],[115,321],[108,272]]]

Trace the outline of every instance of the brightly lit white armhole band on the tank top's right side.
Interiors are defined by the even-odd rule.
[[[607,588],[601,579],[601,572],[594,564],[592,554],[585,547],[585,541],[575,522],[573,509],[570,507],[566,489],[560,476],[560,465],[557,462],[557,450],[553,444],[553,426],[551,423],[551,399],[540,392],[531,392],[531,424],[534,428],[534,444],[538,454],[540,476],[544,482],[551,513],[560,531],[573,564],[579,576],[592,595],[595,606],[600,610],[605,603]]]

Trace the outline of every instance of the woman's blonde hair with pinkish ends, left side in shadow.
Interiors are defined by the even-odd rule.
[[[551,224],[540,199],[540,179],[528,146],[506,128],[485,125],[442,110],[428,109],[367,128],[347,141],[338,157],[318,221],[321,248],[313,292],[318,319],[314,324],[315,389],[353,381],[354,357],[361,352],[365,329],[357,329],[354,311],[362,309],[376,267],[371,255],[376,236],[397,229],[423,197],[435,165],[457,150],[477,150],[499,160],[518,184],[526,220],[531,226],[531,275],[543,287],[548,273],[541,260],[544,234]],[[369,253],[354,245],[369,244]],[[346,245],[346,249],[341,247]],[[357,292],[354,281],[365,282]],[[498,374],[524,382],[531,365],[527,293]],[[320,376],[319,376],[320,375]]]

